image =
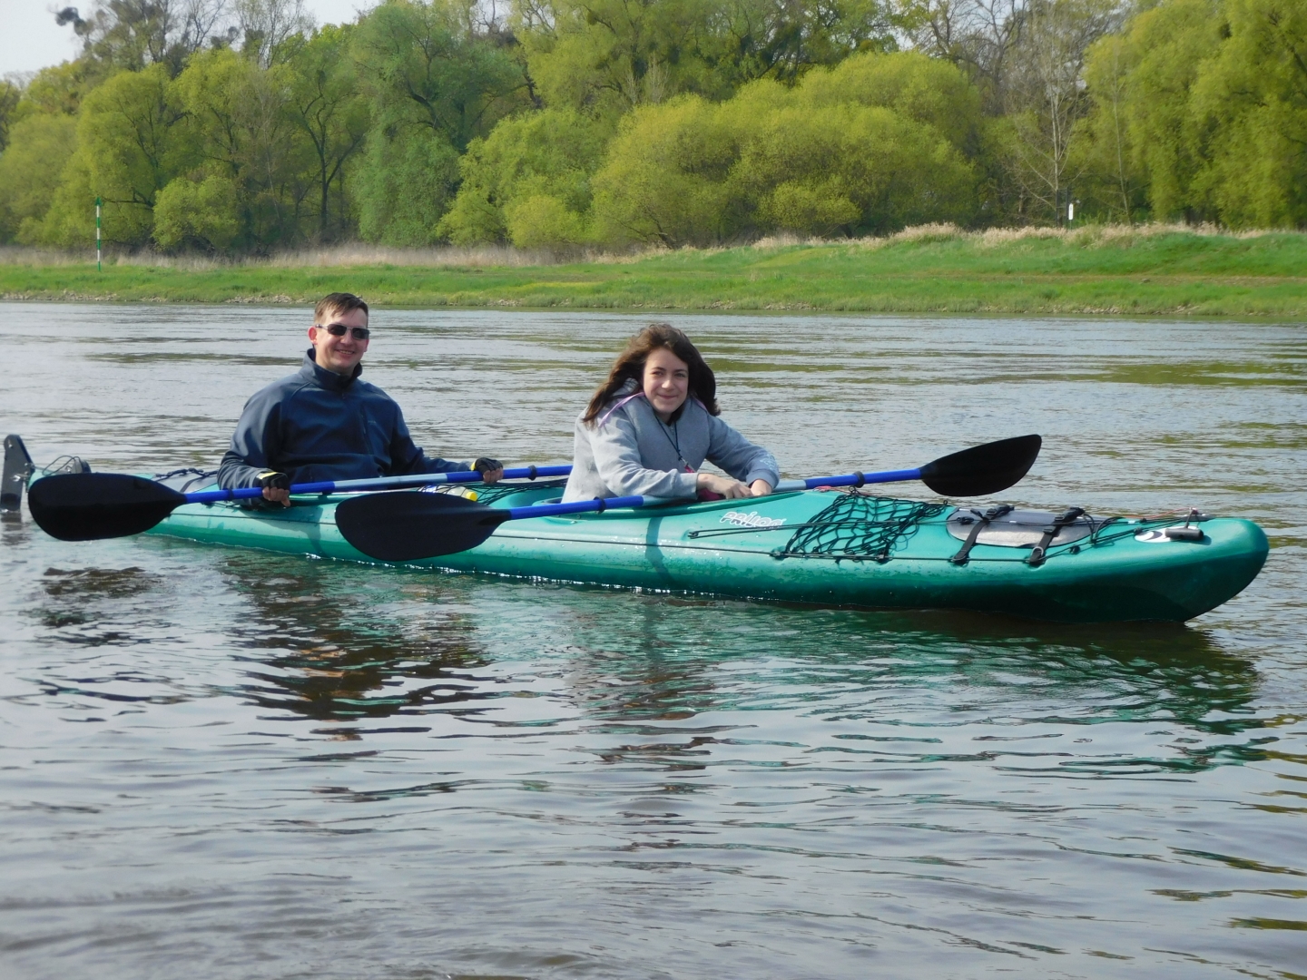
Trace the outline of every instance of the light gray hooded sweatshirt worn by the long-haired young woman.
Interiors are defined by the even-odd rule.
[[[742,483],[780,480],[776,460],[693,397],[664,425],[634,380],[617,393],[593,427],[576,418],[576,448],[563,502],[596,497],[695,495],[695,470],[708,460]],[[582,413],[584,414],[584,412]]]

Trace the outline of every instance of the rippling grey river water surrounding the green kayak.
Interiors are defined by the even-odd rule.
[[[307,312],[0,304],[38,463],[216,465]],[[1307,973],[1307,329],[677,316],[788,476],[1268,532],[1184,626],[379,570],[0,525],[5,977]],[[567,461],[644,318],[378,311],[420,444]],[[927,495],[921,487],[908,494]]]

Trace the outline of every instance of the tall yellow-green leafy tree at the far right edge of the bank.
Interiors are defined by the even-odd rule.
[[[1307,12],[1289,0],[1167,0],[1086,64],[1089,132],[1121,206],[1234,227],[1307,223]],[[1103,159],[1106,158],[1106,159]]]

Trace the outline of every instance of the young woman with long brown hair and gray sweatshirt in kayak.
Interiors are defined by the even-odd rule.
[[[776,460],[719,417],[718,382],[690,338],[655,323],[631,338],[576,419],[563,500],[770,494]],[[703,461],[728,477],[701,473]]]

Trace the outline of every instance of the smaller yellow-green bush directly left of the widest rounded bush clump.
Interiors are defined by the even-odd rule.
[[[439,233],[456,244],[582,243],[591,178],[610,135],[606,123],[569,108],[503,120],[468,146],[459,163],[463,183]]]

